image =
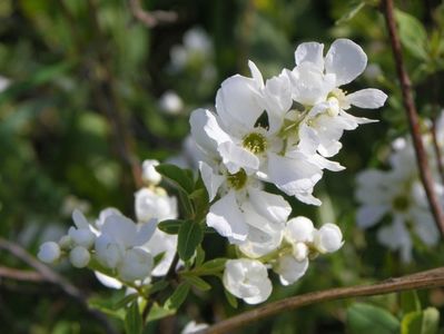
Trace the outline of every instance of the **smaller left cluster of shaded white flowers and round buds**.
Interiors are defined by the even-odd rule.
[[[157,228],[157,223],[177,217],[176,198],[169,197],[157,185],[161,176],[156,171],[156,160],[142,165],[142,179],[147,187],[136,193],[136,224],[118,209],[103,209],[99,218],[90,224],[79,212],[72,213],[76,227],[59,243],[48,242],[40,246],[38,257],[55,263],[63,255],[75,267],[82,268],[93,259],[103,273],[97,272],[100,282],[120,288],[121,282],[149,282],[150,276],[167,273],[177,247],[177,236],[167,235]],[[154,258],[162,254],[156,266]]]

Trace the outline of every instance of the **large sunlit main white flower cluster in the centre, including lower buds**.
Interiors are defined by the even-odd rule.
[[[198,109],[190,117],[193,138],[203,153],[200,174],[214,200],[207,225],[250,258],[292,244],[293,252],[278,256],[274,266],[284,284],[305,273],[312,250],[338,249],[342,234],[333,224],[316,230],[313,224],[302,223],[307,218],[287,222],[290,205],[283,196],[265,191],[264,181],[305,204],[320,205],[313,190],[324,169],[344,169],[327,159],[339,151],[344,130],[373,121],[345,110],[378,108],[386,100],[377,89],[347,94],[339,88],[366,67],[359,46],[337,39],[325,57],[323,51],[320,43],[302,43],[295,52],[296,67],[265,82],[249,61],[250,78],[236,75],[221,84],[217,114]],[[259,261],[230,261],[224,282],[234,295],[258,303],[270,292],[266,273]]]

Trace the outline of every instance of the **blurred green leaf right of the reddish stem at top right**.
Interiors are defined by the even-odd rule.
[[[395,10],[395,18],[402,45],[413,57],[428,60],[427,32],[424,26],[415,17],[398,9]]]

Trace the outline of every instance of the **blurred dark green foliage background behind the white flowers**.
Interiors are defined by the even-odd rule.
[[[431,45],[430,50],[437,49],[424,61],[415,55],[416,45],[405,46],[418,109],[428,116],[427,104],[432,99],[442,104],[443,99],[430,89],[432,77],[435,84],[442,77],[443,8],[432,0],[397,4],[424,22],[430,32],[424,42]],[[406,131],[377,1],[158,0],[142,1],[142,6],[174,11],[178,18],[149,28],[132,16],[126,0],[0,0],[1,236],[36,254],[40,243],[67,229],[75,207],[90,217],[108,206],[134,216],[137,186],[132,173],[138,160],[180,155],[190,111],[213,106],[225,78],[236,72],[248,75],[248,59],[265,77],[277,75],[284,67],[294,67],[299,42],[325,42],[327,49],[335,38],[344,37],[358,42],[368,55],[367,71],[349,89],[379,88],[389,100],[377,111],[355,110],[355,115],[371,114],[382,121],[345,134],[336,160],[347,169],[327,171],[316,188],[325,204],[313,208],[292,200],[294,215],[308,215],[317,224],[338,224],[345,233],[344,248],[315,262],[300,283],[277,287],[272,299],[442,264],[441,246],[416,247],[415,262],[402,265],[396,254],[376,243],[372,230],[364,235],[354,223],[354,176],[368,166],[381,166],[387,144]],[[204,245],[213,256],[226,250],[225,242],[216,236]],[[6,252],[0,253],[0,265],[26,268]],[[91,294],[96,304],[122,295],[100,286],[86,269],[63,264],[57,269]],[[169,327],[160,322],[148,330],[175,333],[193,318],[211,323],[250,308],[230,308],[220,283],[211,283],[214,289],[190,297],[180,314],[169,320]],[[424,305],[444,305],[438,289],[421,293],[420,298]],[[399,312],[397,295],[371,301],[393,314]],[[309,306],[249,331],[346,333],[351,331],[346,325],[351,304],[353,301]],[[118,320],[114,322],[121,328]],[[0,277],[0,332],[103,330],[53,286]]]

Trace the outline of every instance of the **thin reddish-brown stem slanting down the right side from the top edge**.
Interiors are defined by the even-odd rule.
[[[441,230],[442,236],[444,236],[444,213],[443,209],[441,208],[435,189],[433,187],[433,178],[428,167],[427,155],[424,148],[424,143],[421,136],[420,121],[415,102],[413,100],[412,82],[404,67],[401,41],[397,35],[397,28],[394,18],[393,0],[383,1],[383,11],[388,28],[392,51],[395,59],[396,71],[403,95],[403,102],[405,111],[407,114],[413,145],[416,153],[416,163],[420,169],[421,180],[424,185],[424,189],[427,195],[428,205],[432,210],[433,217],[435,219],[436,226]]]

